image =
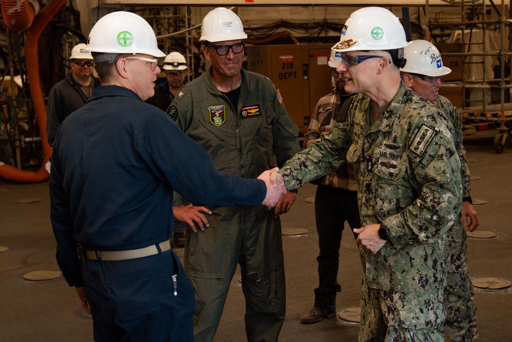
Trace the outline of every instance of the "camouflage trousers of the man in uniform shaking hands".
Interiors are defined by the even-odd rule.
[[[443,290],[361,289],[359,342],[444,342]]]

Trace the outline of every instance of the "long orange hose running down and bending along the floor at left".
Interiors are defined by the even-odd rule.
[[[4,7],[4,1],[1,0],[2,12],[7,8]],[[37,41],[42,30],[50,22],[60,7],[66,3],[66,0],[50,0],[48,4],[41,9],[35,16],[34,21],[27,31],[25,63],[27,65],[27,76],[29,79],[30,94],[32,96],[32,104],[35,111],[37,126],[41,136],[43,159],[39,170],[23,171],[18,170],[10,165],[0,165],[0,176],[5,179],[15,180],[20,183],[37,183],[48,179],[50,174],[46,171],[46,163],[52,155],[52,148],[48,145],[48,137],[46,135],[46,104],[42,96],[42,88],[39,80],[39,59],[37,56]],[[6,22],[7,25],[7,22]]]

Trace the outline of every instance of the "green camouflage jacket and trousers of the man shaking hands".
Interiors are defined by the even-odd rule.
[[[361,226],[382,223],[389,230],[389,242],[375,255],[360,248],[360,340],[444,340],[446,233],[458,219],[462,197],[452,124],[403,82],[373,125],[372,101],[354,96],[347,117],[280,173],[295,189],[352,162]]]

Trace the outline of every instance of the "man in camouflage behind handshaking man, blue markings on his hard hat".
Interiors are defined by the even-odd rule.
[[[404,48],[406,66],[401,69],[403,82],[413,91],[434,102],[445,118],[454,126],[452,132],[460,159],[462,179],[461,220],[455,220],[447,235],[447,278],[444,288],[446,307],[446,334],[452,342],[470,342],[478,338],[476,305],[470,275],[467,270],[466,232],[478,227],[477,212],[472,206],[470,172],[462,146],[462,113],[446,97],[438,95],[441,76],[452,72],[443,65],[439,50],[430,42],[418,39]],[[468,223],[467,218],[470,218]]]

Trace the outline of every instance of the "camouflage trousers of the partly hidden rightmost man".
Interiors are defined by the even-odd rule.
[[[466,232],[458,222],[447,235],[444,329],[452,342],[477,339],[476,306],[470,275],[467,271]]]

